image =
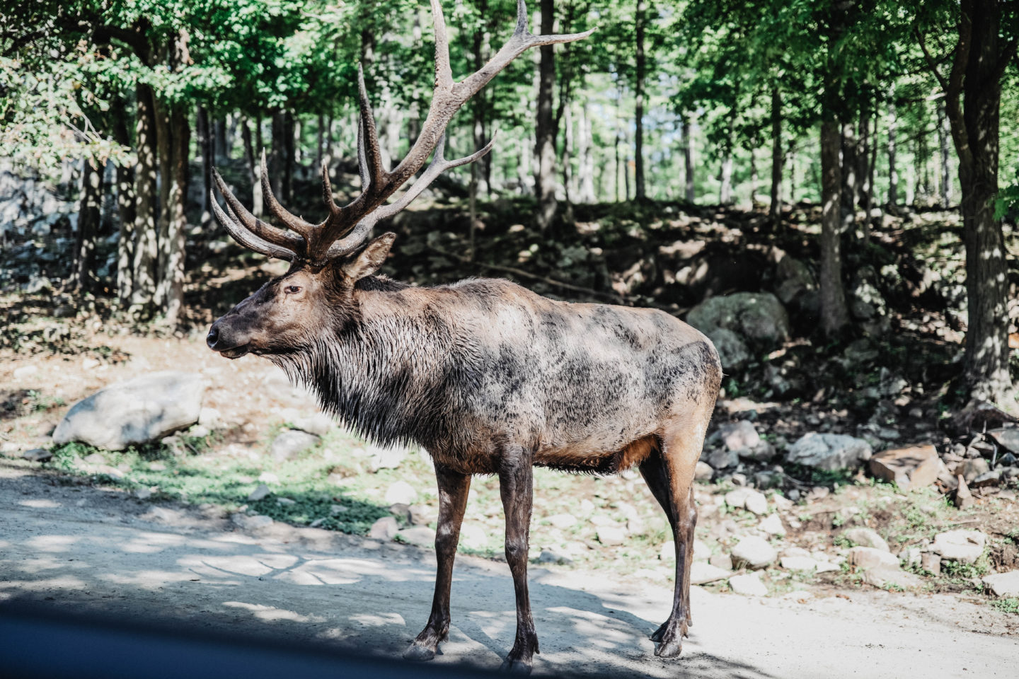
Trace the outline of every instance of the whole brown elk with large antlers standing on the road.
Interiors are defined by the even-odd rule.
[[[692,624],[694,466],[721,376],[711,342],[660,310],[555,301],[505,280],[412,287],[376,274],[395,234],[364,244],[376,223],[406,208],[440,172],[491,149],[489,143],[466,158],[444,158],[444,130],[459,107],[526,49],[590,35],[534,36],[519,0],[508,42],[455,82],[439,0],[431,6],[432,104],[420,136],[392,170],[382,165],[359,71],[357,199],[338,207],[323,166],[328,215],[320,224],[306,222],[273,196],[263,154],[266,204],[284,230],[252,215],[215,173],[226,204],[224,212],[212,201],[219,222],[242,245],[290,267],[216,321],[207,343],[228,358],[265,356],[365,437],[414,442],[431,454],[439,492],[435,595],[405,658],[430,660],[446,638],[471,477],[495,474],[517,603],[517,635],[502,669],[530,672],[539,652],[527,583],[535,465],[599,474],[640,469],[676,539],[673,608],[651,639],[656,655],[677,656]],[[429,156],[421,176],[387,204]]]

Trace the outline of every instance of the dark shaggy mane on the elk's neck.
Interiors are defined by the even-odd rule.
[[[266,356],[291,383],[314,392],[323,410],[382,446],[433,444],[443,431],[442,399],[455,378],[451,372],[459,372],[450,324],[441,314],[360,308],[376,297],[372,293],[410,287],[383,276],[364,278],[356,287],[353,320],[320,329],[293,351]]]

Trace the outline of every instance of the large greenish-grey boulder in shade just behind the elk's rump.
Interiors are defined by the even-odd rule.
[[[687,323],[700,331],[732,330],[762,346],[774,346],[789,339],[789,315],[770,292],[708,297],[690,309]]]

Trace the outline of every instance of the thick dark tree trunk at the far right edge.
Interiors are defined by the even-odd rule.
[[[1008,250],[991,202],[998,191],[1001,77],[1016,49],[1015,43],[1000,47],[1001,13],[998,0],[962,0],[956,64],[946,83],[945,106],[959,158],[966,245],[963,380],[971,401],[1014,408],[1009,401]]]

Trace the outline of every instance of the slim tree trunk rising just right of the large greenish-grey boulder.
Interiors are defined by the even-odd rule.
[[[821,328],[836,337],[849,325],[842,285],[842,186],[839,123],[821,123]]]

